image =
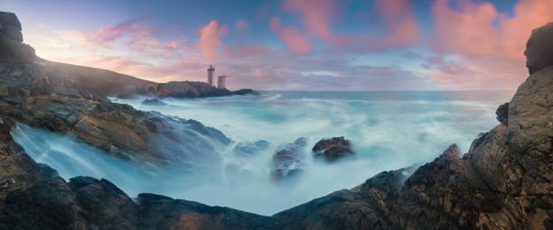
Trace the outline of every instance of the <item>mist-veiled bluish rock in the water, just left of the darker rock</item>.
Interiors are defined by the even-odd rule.
[[[270,178],[276,181],[292,178],[304,170],[306,145],[307,139],[301,137],[278,148],[271,161]]]

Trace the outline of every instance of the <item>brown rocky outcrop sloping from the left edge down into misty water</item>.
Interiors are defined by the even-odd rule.
[[[170,166],[178,162],[220,161],[230,143],[220,131],[193,120],[111,103],[87,88],[71,88],[71,78],[40,63],[0,65],[0,108],[23,124],[67,133],[118,158]],[[93,89],[91,89],[93,90]],[[180,165],[183,169],[192,165]]]

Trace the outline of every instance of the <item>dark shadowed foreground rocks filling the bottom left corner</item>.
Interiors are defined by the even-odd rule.
[[[33,161],[0,124],[0,229],[277,229],[268,216],[153,194],[129,198],[107,179],[67,183]]]

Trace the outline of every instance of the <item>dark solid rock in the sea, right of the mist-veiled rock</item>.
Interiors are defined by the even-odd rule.
[[[351,142],[343,136],[323,139],[315,143],[313,152],[315,157],[322,156],[326,161],[336,161],[353,154]]]

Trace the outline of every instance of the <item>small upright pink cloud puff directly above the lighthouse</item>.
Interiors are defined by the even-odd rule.
[[[227,34],[227,26],[220,26],[219,22],[213,20],[200,30],[200,34],[198,48],[202,51],[203,57],[207,60],[217,60],[220,37]]]

